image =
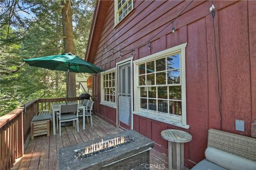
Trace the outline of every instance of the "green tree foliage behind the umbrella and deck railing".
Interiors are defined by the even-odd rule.
[[[85,55],[94,5],[93,0],[73,1],[75,52],[81,58]],[[29,67],[22,62],[63,52],[61,1],[9,0],[1,1],[0,7],[1,90],[23,103],[65,97],[65,72]],[[0,100],[0,116],[22,105],[2,91]]]

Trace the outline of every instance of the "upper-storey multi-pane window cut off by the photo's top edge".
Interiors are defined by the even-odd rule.
[[[115,1],[115,25],[133,9],[133,0]]]

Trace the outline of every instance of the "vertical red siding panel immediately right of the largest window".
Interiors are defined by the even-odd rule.
[[[199,19],[187,26],[188,44],[186,48],[186,87],[187,87],[187,124],[193,135],[190,145],[193,149],[189,158],[198,162],[204,158],[207,145],[208,121],[208,74],[206,21]],[[200,143],[200,144],[198,144]],[[193,157],[197,155],[197,157]]]

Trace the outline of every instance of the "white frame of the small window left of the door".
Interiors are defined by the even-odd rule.
[[[115,72],[115,102],[108,102],[104,100],[104,91],[103,91],[103,75],[109,74],[110,72]],[[111,68],[109,70],[103,71],[100,73],[100,104],[108,106],[111,108],[116,108],[116,68]]]

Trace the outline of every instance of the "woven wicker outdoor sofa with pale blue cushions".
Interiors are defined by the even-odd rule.
[[[256,170],[256,139],[209,129],[205,159],[191,170]]]

